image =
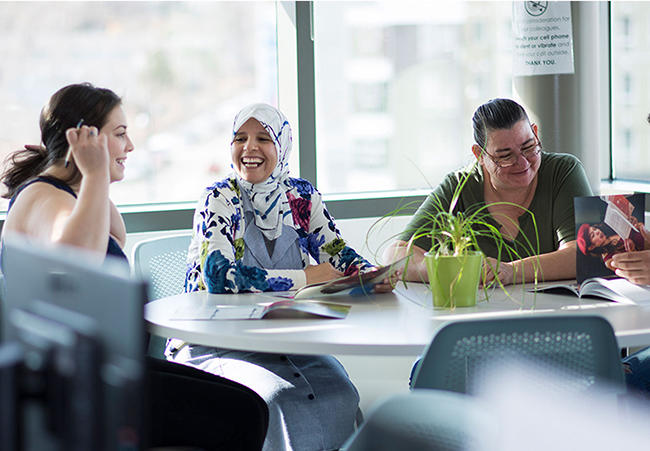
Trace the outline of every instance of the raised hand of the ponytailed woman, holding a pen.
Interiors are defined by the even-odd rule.
[[[75,164],[81,174],[87,177],[92,174],[108,176],[108,144],[106,135],[99,133],[97,127],[83,126],[69,128],[65,136],[74,156]]]

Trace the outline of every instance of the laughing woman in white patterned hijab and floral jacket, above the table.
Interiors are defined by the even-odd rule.
[[[237,114],[234,173],[204,191],[194,214],[186,291],[294,290],[371,267],[346,246],[320,193],[289,177],[290,153],[280,111],[254,104]]]

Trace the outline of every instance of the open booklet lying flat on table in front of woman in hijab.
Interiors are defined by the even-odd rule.
[[[174,320],[218,320],[218,319],[291,319],[329,318],[343,319],[350,306],[320,301],[261,302],[249,305],[206,305],[201,308],[180,308],[174,312]]]

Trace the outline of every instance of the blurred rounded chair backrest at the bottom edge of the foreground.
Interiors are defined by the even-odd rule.
[[[377,404],[341,451],[480,449],[499,428],[475,398],[416,390]]]

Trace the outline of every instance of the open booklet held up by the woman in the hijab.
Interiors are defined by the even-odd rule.
[[[401,271],[406,265],[408,257],[403,257],[396,262],[386,266],[378,266],[368,272],[352,274],[331,280],[329,282],[314,283],[307,285],[293,293],[293,299],[321,298],[324,296],[361,296],[372,292],[378,283],[387,277],[392,277],[396,272]]]

